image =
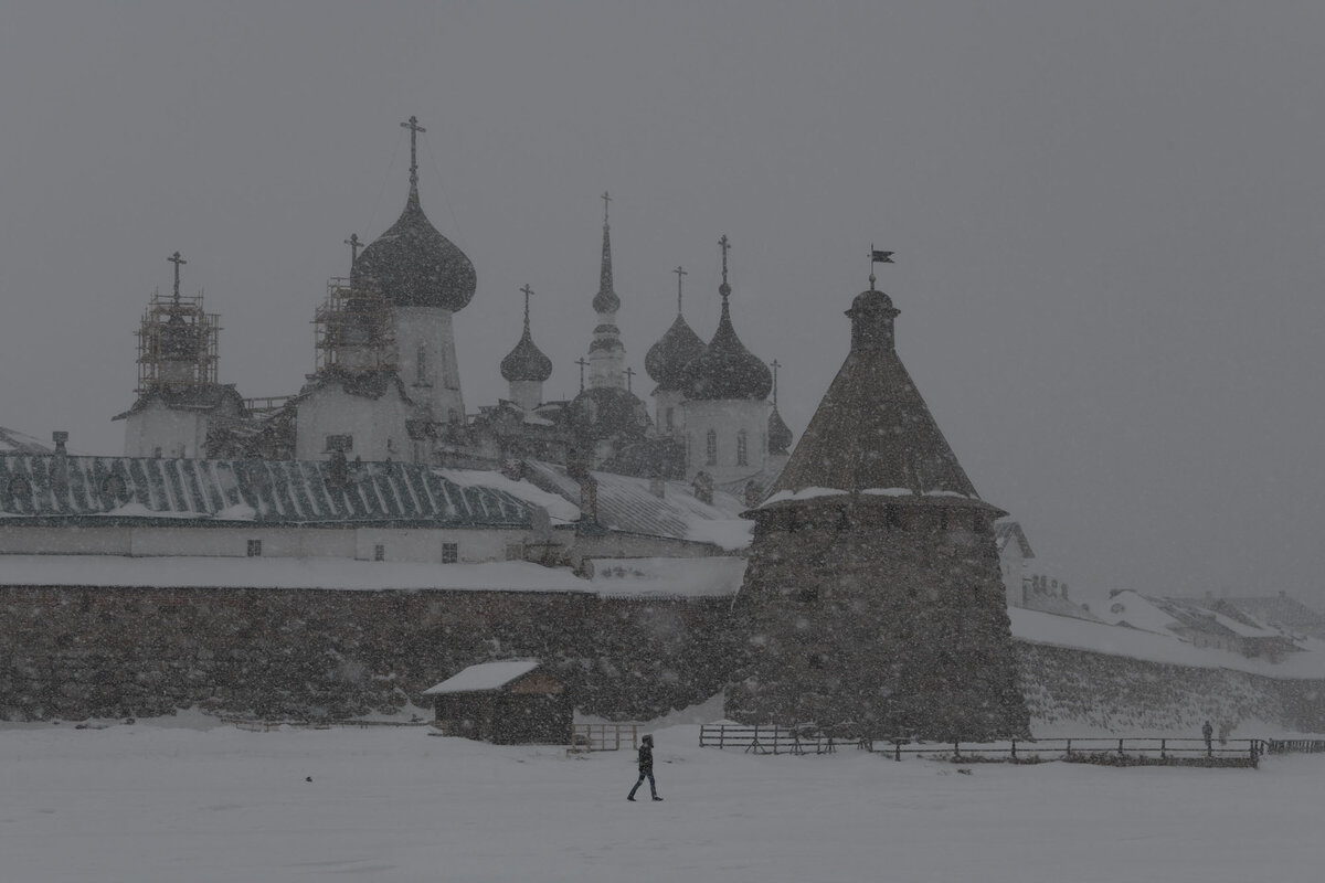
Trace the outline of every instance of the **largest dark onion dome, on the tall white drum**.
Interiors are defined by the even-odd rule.
[[[398,307],[464,310],[478,285],[474,265],[423,213],[409,188],[405,210],[354,262],[354,281],[371,279]]]

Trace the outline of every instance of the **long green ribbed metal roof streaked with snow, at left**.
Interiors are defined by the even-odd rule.
[[[530,527],[534,507],[421,463],[347,463],[338,475],[323,461],[0,457],[0,519],[107,518]]]

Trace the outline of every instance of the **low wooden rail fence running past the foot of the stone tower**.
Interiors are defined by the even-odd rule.
[[[1268,743],[1261,739],[1232,739],[1227,741],[1204,739],[1169,739],[1150,736],[1086,737],[1086,739],[1014,739],[996,743],[921,743],[897,739],[871,739],[837,736],[808,727],[746,727],[734,724],[705,724],[700,728],[701,748],[741,748],[759,755],[825,755],[841,745],[855,745],[863,751],[885,755],[893,760],[921,757],[961,763],[1022,763],[1047,760],[1098,763],[1110,765],[1192,765],[1192,767],[1255,767],[1271,745],[1298,743]],[[1305,743],[1304,743],[1305,744]],[[1318,748],[1297,751],[1325,751],[1325,741],[1312,743]],[[1281,748],[1273,753],[1283,753]]]

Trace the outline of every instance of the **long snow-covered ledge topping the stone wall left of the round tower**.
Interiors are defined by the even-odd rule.
[[[311,557],[127,557],[119,555],[0,555],[0,585],[448,589],[457,592],[594,592],[567,568],[529,561],[424,564]]]

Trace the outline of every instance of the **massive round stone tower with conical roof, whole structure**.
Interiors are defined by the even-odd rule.
[[[851,353],[750,512],[726,714],[873,737],[1026,735],[994,544],[1003,512],[939,432],[897,357],[898,310],[869,281],[847,311]]]

